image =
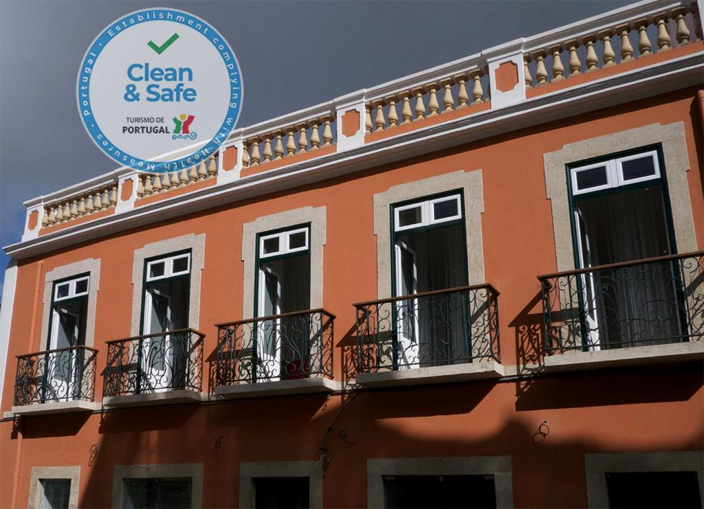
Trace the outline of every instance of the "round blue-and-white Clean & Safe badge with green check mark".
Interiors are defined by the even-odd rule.
[[[241,111],[242,77],[230,45],[206,21],[151,8],[96,37],[78,73],[77,101],[88,134],[115,162],[170,172],[196,165],[227,139]]]

